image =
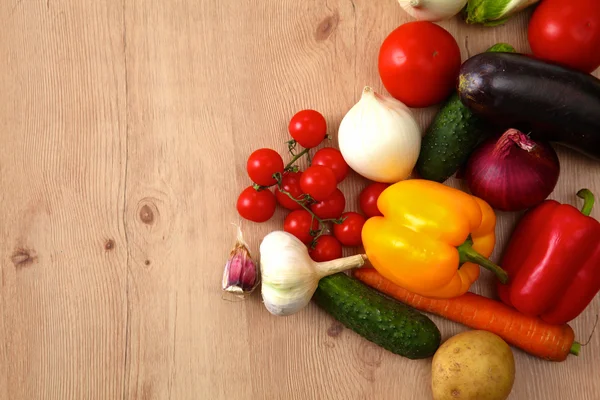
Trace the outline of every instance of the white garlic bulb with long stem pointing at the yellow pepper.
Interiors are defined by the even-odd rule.
[[[321,278],[360,267],[365,258],[356,255],[317,263],[294,235],[271,232],[260,244],[261,292],[265,307],[278,316],[294,314],[310,302]]]

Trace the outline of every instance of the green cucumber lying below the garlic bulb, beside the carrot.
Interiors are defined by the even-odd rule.
[[[438,327],[424,314],[392,300],[343,272],[325,277],[313,300],[365,339],[410,359],[433,356]]]

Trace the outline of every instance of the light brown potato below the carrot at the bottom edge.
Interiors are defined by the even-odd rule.
[[[515,381],[512,350],[486,331],[466,331],[448,339],[433,356],[435,400],[504,400]]]

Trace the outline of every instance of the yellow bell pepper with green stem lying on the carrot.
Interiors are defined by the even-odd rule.
[[[411,179],[385,189],[377,207],[383,217],[367,220],[362,241],[373,267],[395,284],[426,297],[456,297],[477,280],[479,265],[507,281],[506,272],[487,259],[496,216],[483,200]]]

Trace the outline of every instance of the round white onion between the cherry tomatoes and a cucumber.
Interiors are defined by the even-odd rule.
[[[396,183],[408,178],[419,158],[421,129],[402,102],[366,86],[338,130],[342,156],[367,179]]]

